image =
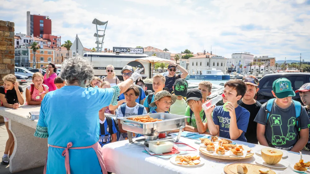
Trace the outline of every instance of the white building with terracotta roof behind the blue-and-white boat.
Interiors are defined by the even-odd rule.
[[[226,73],[227,59],[222,56],[206,53],[189,58],[189,70],[213,67]]]

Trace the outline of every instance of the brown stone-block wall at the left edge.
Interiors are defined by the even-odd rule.
[[[3,76],[15,72],[14,36],[14,22],[0,20],[0,86],[3,85]],[[3,123],[2,116],[0,123]]]

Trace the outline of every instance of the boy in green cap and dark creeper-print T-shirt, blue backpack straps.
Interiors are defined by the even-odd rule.
[[[308,142],[310,120],[307,112],[300,102],[292,100],[296,94],[290,80],[275,80],[272,94],[276,98],[264,103],[254,120],[259,144],[299,152]]]

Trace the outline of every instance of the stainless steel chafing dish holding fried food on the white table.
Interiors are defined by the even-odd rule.
[[[134,120],[128,120],[128,118],[135,117],[144,117],[149,115],[154,119],[159,119],[162,121],[156,121],[151,123],[141,123]],[[185,127],[185,119],[189,118],[188,116],[183,115],[175,115],[169,113],[156,113],[156,114],[146,114],[146,115],[135,115],[129,117],[120,117],[117,118],[121,121],[122,129],[126,130],[128,133],[128,140],[132,143],[132,133],[137,133],[140,135],[144,135],[144,141],[152,141],[156,140],[158,133],[169,132],[171,130],[179,129],[179,134],[176,140],[173,139],[174,142],[178,142],[183,128]],[[172,139],[172,138],[165,138]]]

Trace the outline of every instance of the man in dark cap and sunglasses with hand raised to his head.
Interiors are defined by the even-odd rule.
[[[176,72],[177,68],[179,68],[179,70],[182,73],[176,75],[175,72]],[[166,78],[165,88],[168,88],[169,92],[171,93],[173,91],[172,86],[175,84],[175,80],[179,79],[179,78],[185,79],[186,76],[188,75],[188,72],[186,71],[186,69],[184,67],[181,67],[180,65],[178,65],[174,62],[169,63],[168,72],[169,72],[169,74],[167,76],[165,76],[165,78]]]

